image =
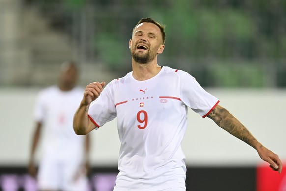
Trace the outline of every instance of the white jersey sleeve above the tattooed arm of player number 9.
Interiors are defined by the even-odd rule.
[[[193,111],[206,117],[219,103],[219,100],[205,91],[189,73],[178,70],[182,102]]]

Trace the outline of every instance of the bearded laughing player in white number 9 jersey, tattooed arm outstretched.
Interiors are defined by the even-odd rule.
[[[121,141],[114,191],[185,191],[181,141],[187,107],[257,150],[270,167],[282,170],[279,157],[259,143],[219,100],[190,74],[157,64],[164,50],[164,26],[151,18],[133,29],[129,48],[132,72],[123,78],[86,86],[74,116],[74,130],[87,134],[117,117]]]

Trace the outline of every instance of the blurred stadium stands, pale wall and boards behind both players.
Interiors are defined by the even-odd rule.
[[[166,24],[159,64],[191,73],[286,160],[286,1],[0,0],[0,190],[32,191],[26,165],[34,99],[57,83],[59,64],[78,62],[83,87],[123,76],[142,17]],[[255,150],[207,119],[188,117],[187,190],[285,191],[284,173],[265,170]],[[110,190],[117,173],[115,126],[92,133],[96,191]]]

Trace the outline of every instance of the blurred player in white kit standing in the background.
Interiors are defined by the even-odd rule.
[[[36,101],[28,170],[37,177],[41,191],[87,190],[90,138],[76,135],[72,127],[73,115],[83,97],[83,89],[76,86],[77,79],[76,64],[63,63],[59,84],[42,90]],[[41,137],[43,156],[37,173],[35,153]]]

